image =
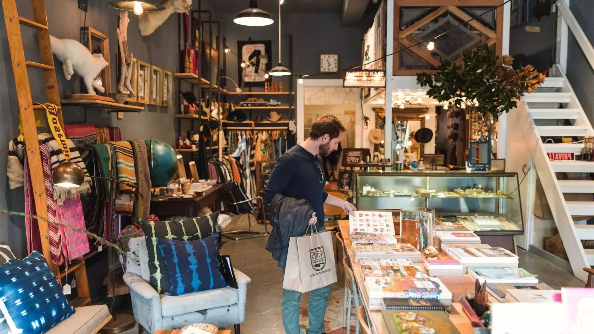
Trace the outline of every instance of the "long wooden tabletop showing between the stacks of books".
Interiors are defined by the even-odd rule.
[[[388,334],[388,328],[383,317],[381,316],[381,311],[369,310],[369,297],[365,289],[365,284],[361,273],[361,264],[355,262],[355,254],[351,249],[349,238],[349,220],[339,220],[339,229],[343,240],[345,240],[345,246],[347,253],[349,254],[350,263],[353,265],[353,273],[355,274],[357,289],[359,291],[359,295],[361,296],[361,300],[363,301],[365,311],[367,312],[369,327],[374,334]],[[396,237],[398,238],[399,236],[397,235]],[[447,258],[447,256],[445,256],[443,253],[440,253],[440,257]],[[470,275],[467,274],[464,276],[442,276],[440,277],[440,280],[453,294],[453,300],[458,300],[458,298],[460,298],[460,294],[466,294],[466,291],[475,291],[475,281],[470,277]],[[489,298],[489,302],[492,301],[493,300]],[[470,320],[462,310],[462,305],[460,303],[452,303],[450,320],[452,323],[454,323],[454,326],[456,326],[460,334],[473,334],[472,324],[470,324]]]

